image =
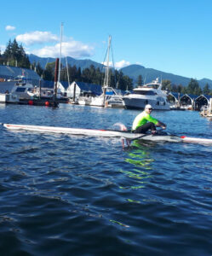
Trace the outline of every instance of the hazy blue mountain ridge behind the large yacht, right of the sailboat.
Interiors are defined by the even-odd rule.
[[[121,71],[123,72],[123,74],[129,76],[130,79],[133,79],[135,84],[139,75],[142,76],[142,78],[145,80],[145,83],[152,82],[152,80],[159,78],[163,80],[168,79],[171,81],[172,84],[182,84],[183,86],[187,86],[187,84],[189,84],[191,80],[191,78],[185,78],[179,75],[175,75],[173,73],[165,73],[153,68],[146,68],[140,65],[130,65],[128,67],[123,67]],[[212,88],[212,80],[198,80],[198,84],[202,88],[207,83],[209,84],[209,87]]]

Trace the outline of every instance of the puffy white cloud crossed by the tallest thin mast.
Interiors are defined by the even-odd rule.
[[[72,56],[72,58],[90,57],[94,53],[94,48],[81,42],[70,39],[61,45],[62,56]],[[60,44],[45,46],[42,49],[34,49],[31,52],[40,57],[59,57]]]

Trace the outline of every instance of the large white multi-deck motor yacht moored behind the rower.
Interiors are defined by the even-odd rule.
[[[135,88],[133,93],[123,96],[123,102],[127,109],[144,109],[146,104],[151,104],[153,109],[170,110],[167,94],[158,79]]]

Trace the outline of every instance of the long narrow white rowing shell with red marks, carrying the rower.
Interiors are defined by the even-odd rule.
[[[13,125],[3,124],[4,127],[10,130],[26,130],[26,131],[39,131],[39,132],[54,132],[65,133],[72,135],[83,135],[90,137],[123,137],[129,140],[142,139],[154,142],[187,142],[187,143],[212,143],[212,139],[186,137],[169,135],[162,132],[158,135],[152,136],[151,134],[132,133],[130,131],[110,131],[110,130],[94,130],[94,129],[81,129],[81,128],[66,128],[66,127],[53,127],[53,126],[38,126],[38,125]]]

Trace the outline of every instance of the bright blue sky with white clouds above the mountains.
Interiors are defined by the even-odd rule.
[[[117,68],[131,64],[212,79],[212,1],[37,0],[1,3],[0,47],[14,38],[27,53],[102,62],[107,40]]]

